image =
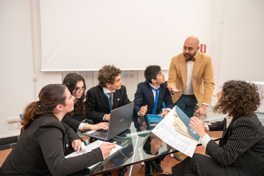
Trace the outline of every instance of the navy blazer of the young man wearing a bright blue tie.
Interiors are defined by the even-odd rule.
[[[166,108],[173,108],[172,97],[167,88],[167,82],[160,85],[158,95],[157,113],[162,113],[163,101]],[[154,108],[154,96],[149,82],[140,82],[137,84],[137,92],[134,94],[134,115],[137,116],[142,106],[148,105],[147,113],[152,113]]]

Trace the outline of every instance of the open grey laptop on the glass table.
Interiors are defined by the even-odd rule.
[[[84,135],[109,141],[130,127],[133,108],[134,102],[113,109],[110,114],[108,130],[90,130],[89,132],[84,132]]]

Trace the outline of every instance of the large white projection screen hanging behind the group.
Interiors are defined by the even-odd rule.
[[[168,68],[175,6],[175,0],[41,0],[41,70]]]

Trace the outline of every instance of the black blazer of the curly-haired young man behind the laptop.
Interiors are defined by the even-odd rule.
[[[127,89],[121,86],[121,89],[113,93],[113,109],[130,103],[127,98]],[[94,120],[94,123],[103,122],[103,115],[111,113],[108,97],[103,93],[103,88],[97,85],[87,91],[86,94],[86,112],[87,119]]]

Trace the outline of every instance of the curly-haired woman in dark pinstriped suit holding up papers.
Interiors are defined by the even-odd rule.
[[[210,126],[192,117],[189,124],[201,137],[208,156],[194,153],[173,166],[172,175],[264,175],[264,127],[254,113],[262,99],[258,87],[230,80],[217,95],[213,111],[227,117]],[[206,130],[223,131],[219,144]]]

